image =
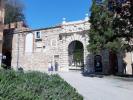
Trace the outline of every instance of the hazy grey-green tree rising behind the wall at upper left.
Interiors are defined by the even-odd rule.
[[[5,24],[25,21],[24,6],[19,0],[5,0]]]

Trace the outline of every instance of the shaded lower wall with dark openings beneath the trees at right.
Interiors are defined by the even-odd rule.
[[[105,75],[105,69],[103,68],[107,68],[107,72],[106,75],[120,75],[120,76],[126,76],[128,75],[127,72],[127,67],[132,67],[130,68],[130,70],[132,70],[132,74],[133,74],[133,64],[128,64],[130,66],[127,66],[127,63],[125,61],[125,57],[129,56],[126,55],[126,53],[121,53],[121,56],[119,57],[120,54],[116,54],[116,53],[109,53],[109,56],[107,57],[109,59],[108,62],[108,66],[103,67],[102,65],[104,65],[104,62],[102,61],[102,56],[100,55],[93,55],[93,54],[88,54],[88,56],[86,57],[86,65],[84,68],[84,75],[91,75],[91,74],[100,74],[100,75]],[[103,56],[104,57],[104,56]],[[120,60],[121,59],[121,60]],[[128,58],[127,60],[131,59]],[[132,75],[130,74],[130,75]]]

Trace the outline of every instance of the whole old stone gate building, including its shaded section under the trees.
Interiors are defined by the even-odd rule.
[[[109,56],[106,50],[98,55],[87,51],[88,20],[87,16],[74,22],[66,22],[64,18],[60,25],[36,30],[24,27],[22,22],[17,23],[17,28],[12,24],[13,31],[5,34],[3,45],[10,52],[10,65],[14,69],[45,72],[49,64],[54,67],[56,62],[58,71],[84,69],[88,73],[123,74],[125,70],[126,74],[132,74],[132,53]],[[80,61],[74,59],[75,49],[81,51]]]

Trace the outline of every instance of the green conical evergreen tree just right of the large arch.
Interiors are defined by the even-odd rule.
[[[121,47],[121,39],[114,33],[113,13],[108,10],[108,0],[96,2],[93,0],[90,16],[90,31],[88,50],[99,53],[101,50],[117,52]]]

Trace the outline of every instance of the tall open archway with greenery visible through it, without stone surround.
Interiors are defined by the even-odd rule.
[[[72,41],[68,46],[69,69],[81,70],[84,66],[84,47],[80,41]]]

